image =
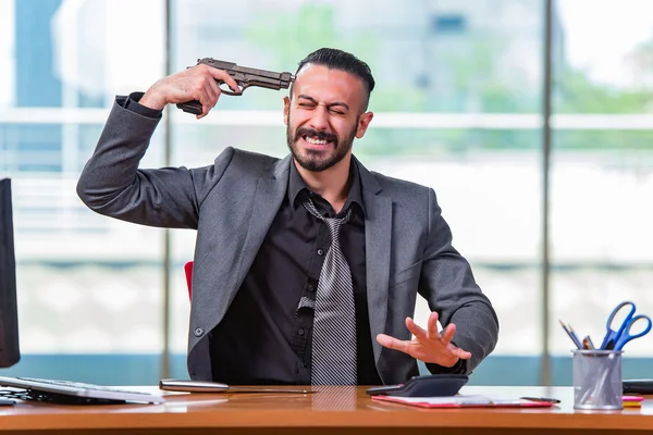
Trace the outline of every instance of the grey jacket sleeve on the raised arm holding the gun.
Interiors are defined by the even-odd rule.
[[[201,201],[218,183],[233,149],[211,166],[138,169],[160,117],[125,105],[118,97],[95,152],[77,182],[77,195],[91,210],[143,225],[197,228]]]

